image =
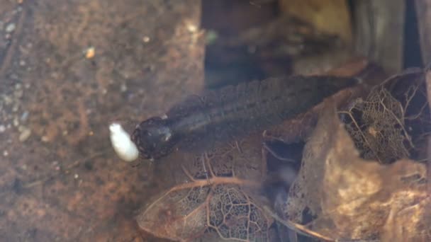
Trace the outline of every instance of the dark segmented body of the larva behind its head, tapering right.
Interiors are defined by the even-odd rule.
[[[167,114],[174,133],[208,139],[267,129],[352,86],[357,79],[289,76],[241,83],[192,96]]]

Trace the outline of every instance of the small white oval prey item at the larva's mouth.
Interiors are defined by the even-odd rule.
[[[113,149],[123,161],[130,162],[138,159],[138,148],[130,139],[130,135],[125,132],[120,124],[116,122],[112,123],[109,125],[109,131],[111,133],[111,144]]]

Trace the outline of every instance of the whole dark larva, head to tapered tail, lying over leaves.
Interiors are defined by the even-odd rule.
[[[192,148],[242,137],[306,112],[356,83],[333,76],[289,76],[205,91],[175,105],[167,119],[142,122],[133,141],[145,157],[157,159],[177,144]]]

